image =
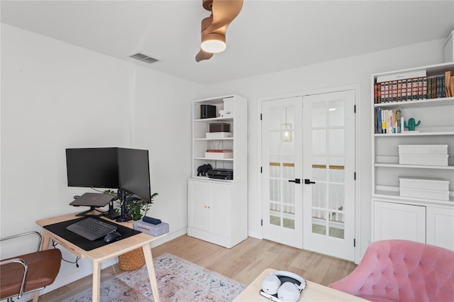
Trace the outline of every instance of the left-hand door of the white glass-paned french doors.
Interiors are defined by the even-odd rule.
[[[262,234],[302,248],[302,98],[262,103]]]

